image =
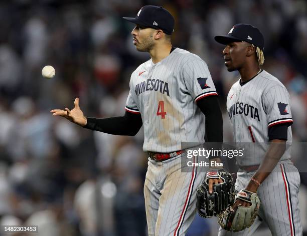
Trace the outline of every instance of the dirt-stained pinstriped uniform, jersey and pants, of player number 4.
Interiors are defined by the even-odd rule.
[[[196,101],[216,95],[206,63],[177,48],[159,63],[149,60],[132,73],[125,109],[142,117],[144,151],[170,153],[182,150],[183,142],[204,142],[205,116]],[[181,170],[181,155],[162,162],[148,158],[148,235],[185,235],[192,223],[196,189],[205,173],[195,167]]]

